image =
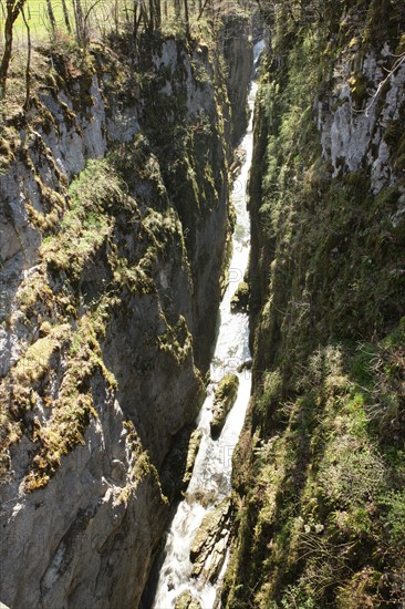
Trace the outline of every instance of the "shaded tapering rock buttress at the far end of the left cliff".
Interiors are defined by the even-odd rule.
[[[196,363],[204,370],[220,297],[218,277],[229,227],[227,167],[231,158],[231,115],[225,79],[219,58],[209,61],[208,56],[208,48],[198,44],[185,62],[184,50],[170,41],[149,55],[149,61],[147,55],[142,66],[144,71],[157,68],[162,74],[158,94],[156,82],[145,87],[142,115],[185,227],[193,276],[190,330]]]

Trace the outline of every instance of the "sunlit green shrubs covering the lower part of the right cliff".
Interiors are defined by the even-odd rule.
[[[398,331],[390,337],[398,337]],[[391,341],[388,353],[385,344]],[[271,607],[274,599],[281,606],[294,601],[299,607],[318,607],[333,598],[333,590],[339,598],[349,598],[349,589],[374,602],[384,595],[398,598],[397,576],[393,587],[382,591],[381,571],[402,568],[397,545],[405,530],[404,497],[392,485],[404,484],[405,461],[399,437],[394,441],[396,448],[393,437],[387,444],[387,431],[381,432],[387,423],[375,417],[374,405],[381,407],[382,394],[395,395],[398,368],[393,378],[386,362],[397,361],[401,352],[398,338],[388,337],[355,349],[350,344],[319,349],[304,368],[297,369],[299,394],[288,400],[282,396],[285,381],[280,371],[266,374],[259,421],[268,430],[267,404],[267,416],[273,430],[278,422],[279,431],[267,441],[256,440],[253,447],[246,517],[255,527],[239,526],[239,539],[250,553],[248,558],[240,548],[239,562],[233,562],[233,577],[238,565],[241,569],[246,560],[250,565],[242,598],[253,588],[259,607]],[[359,384],[364,372],[366,391]],[[368,574],[363,569],[370,565],[375,569]],[[361,577],[366,578],[366,592],[360,589]],[[230,586],[229,606],[240,593],[240,588]]]

